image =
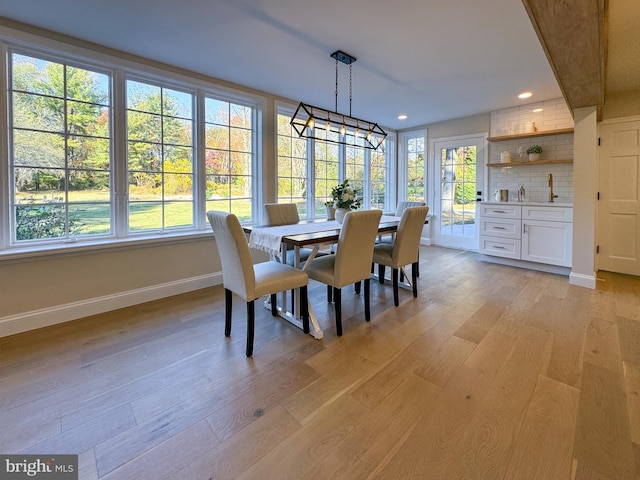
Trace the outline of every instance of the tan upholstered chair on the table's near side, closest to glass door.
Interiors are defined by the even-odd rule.
[[[385,266],[391,267],[391,282],[393,284],[393,304],[398,301],[398,270],[411,264],[411,285],[413,296],[418,296],[418,253],[420,249],[420,235],[424,221],[429,213],[429,207],[405,208],[400,218],[398,231],[392,244],[379,243],[373,249],[373,263],[378,264],[378,278],[384,283]]]

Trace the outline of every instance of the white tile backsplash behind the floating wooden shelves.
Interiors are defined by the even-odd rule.
[[[534,109],[542,109],[533,112]],[[491,112],[491,135],[507,136],[526,133],[534,122],[537,132],[573,128],[573,118],[564,99],[548,100],[519,107]],[[529,124],[529,125],[527,125]],[[489,191],[485,200],[493,201],[494,192],[507,189],[510,198],[517,198],[520,185],[524,185],[526,200],[546,202],[549,198],[547,178],[553,175],[553,192],[556,202],[573,201],[573,164],[526,165],[526,150],[531,145],[542,146],[542,160],[564,160],[573,158],[573,134],[546,135],[530,138],[512,138],[489,144],[489,163],[500,163],[501,152],[511,154],[511,165],[489,168]],[[514,165],[522,163],[522,165]]]

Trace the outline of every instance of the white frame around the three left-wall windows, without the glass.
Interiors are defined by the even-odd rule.
[[[4,94],[0,96],[0,140],[5,148],[0,149],[0,261],[24,259],[59,254],[75,254],[83,251],[137,248],[140,245],[196,241],[210,237],[210,227],[206,219],[206,199],[204,183],[204,97],[205,95],[242,104],[251,108],[251,220],[244,223],[256,223],[259,220],[258,206],[262,204],[262,112],[266,108],[266,97],[244,91],[242,87],[233,88],[221,85],[214,79],[198,77],[191,72],[176,72],[157,66],[153,61],[133,61],[114,54],[98,52],[80,46],[80,42],[64,43],[41,35],[26,33],[0,26],[0,86]],[[15,221],[12,215],[13,186],[10,174],[10,116],[9,86],[11,77],[9,66],[12,63],[11,52],[33,56],[43,60],[66,63],[78,68],[89,69],[110,75],[110,135],[111,165],[110,193],[111,234],[78,238],[74,242],[60,238],[29,241],[20,244],[12,242]],[[191,228],[175,231],[128,232],[127,201],[127,131],[126,131],[126,79],[134,78],[143,82],[160,84],[165,88],[194,92],[194,171],[193,171],[193,211],[194,224]],[[9,187],[9,188],[5,188]],[[11,232],[11,233],[8,233]]]

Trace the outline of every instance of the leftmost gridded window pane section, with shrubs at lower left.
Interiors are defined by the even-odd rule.
[[[110,76],[10,55],[13,242],[110,234]]]

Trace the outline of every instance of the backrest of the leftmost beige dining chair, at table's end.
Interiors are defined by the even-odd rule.
[[[247,237],[233,213],[207,212],[222,262],[224,288],[247,301],[254,300],[256,277]]]

